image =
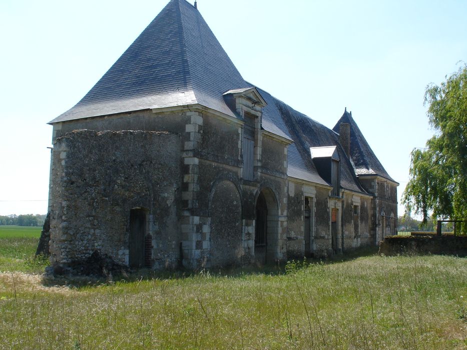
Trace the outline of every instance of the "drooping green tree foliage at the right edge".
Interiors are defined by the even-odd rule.
[[[427,116],[435,133],[411,152],[407,207],[438,219],[467,219],[467,64],[440,85],[426,87]]]

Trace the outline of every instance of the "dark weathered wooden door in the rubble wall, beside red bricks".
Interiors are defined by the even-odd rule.
[[[128,263],[130,267],[143,267],[145,264],[146,211],[130,210],[130,241]]]

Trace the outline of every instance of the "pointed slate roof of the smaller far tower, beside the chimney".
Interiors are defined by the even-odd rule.
[[[379,175],[394,181],[374,154],[365,137],[363,137],[357,123],[353,119],[352,114],[347,111],[347,108],[332,129],[335,132],[339,132],[341,123],[350,124],[350,157],[352,158],[355,174]]]

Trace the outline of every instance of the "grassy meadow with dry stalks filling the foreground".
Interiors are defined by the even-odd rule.
[[[0,348],[467,347],[465,258],[371,253],[98,280],[33,273],[17,247],[26,267],[0,272]]]

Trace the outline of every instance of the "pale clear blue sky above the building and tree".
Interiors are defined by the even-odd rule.
[[[0,1],[0,214],[47,212],[47,122],[167,2]],[[328,127],[351,110],[400,198],[410,151],[433,133],[425,87],[467,61],[467,1],[199,0],[198,9],[246,80]]]

